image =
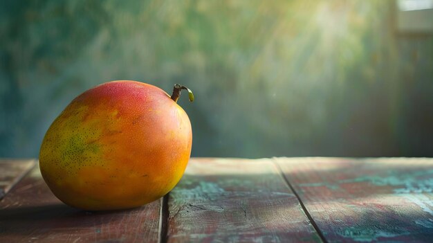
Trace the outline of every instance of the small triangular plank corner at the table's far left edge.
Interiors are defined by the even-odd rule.
[[[35,159],[0,159],[0,201],[35,164]]]

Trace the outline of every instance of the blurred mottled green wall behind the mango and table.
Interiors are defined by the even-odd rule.
[[[190,87],[192,156],[433,156],[433,37],[394,0],[0,6],[1,157],[109,80]]]

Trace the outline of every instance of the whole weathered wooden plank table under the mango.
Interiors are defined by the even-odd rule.
[[[0,242],[433,242],[433,159],[191,159],[140,208],[87,212],[0,161]]]

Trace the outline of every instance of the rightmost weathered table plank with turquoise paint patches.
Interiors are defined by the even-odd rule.
[[[433,159],[275,159],[329,242],[432,242]]]

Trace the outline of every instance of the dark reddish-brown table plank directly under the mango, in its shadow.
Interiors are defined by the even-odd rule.
[[[62,204],[34,168],[0,202],[0,242],[158,242],[160,201],[86,212]]]

